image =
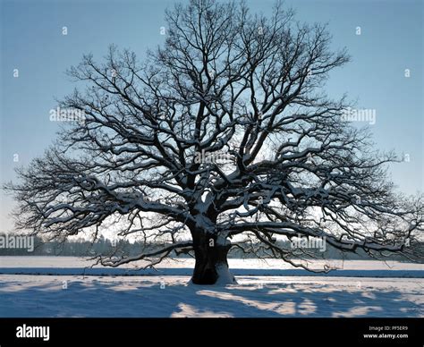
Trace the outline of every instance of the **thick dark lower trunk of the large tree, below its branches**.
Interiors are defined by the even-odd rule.
[[[236,284],[228,268],[227,255],[231,245],[216,243],[214,236],[198,234],[193,237],[196,265],[191,282],[193,284]]]

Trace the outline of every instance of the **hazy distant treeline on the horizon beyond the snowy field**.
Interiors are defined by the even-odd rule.
[[[284,249],[291,249],[290,241],[276,241],[280,247]],[[424,254],[424,242],[416,242],[411,247],[414,248],[417,254]],[[141,250],[152,251],[158,250],[159,244],[150,244],[148,247],[142,241],[112,241],[104,236],[101,236],[96,241],[88,241],[85,239],[66,240],[66,241],[43,241],[38,236],[34,237],[34,250],[29,252],[25,249],[10,249],[0,248],[0,256],[72,256],[72,257],[90,257],[95,255],[110,255],[116,251],[116,255],[134,256],[140,254]],[[314,258],[324,259],[369,259],[370,256],[364,250],[358,250],[357,253],[342,252],[335,249],[330,245],[326,245],[325,251],[319,249],[308,250]],[[265,251],[258,252],[260,257],[267,257]],[[176,257],[175,254],[172,254]],[[292,258],[312,258],[312,256],[301,255],[301,250],[294,250]],[[407,260],[399,254],[386,254],[387,259],[392,260]],[[180,258],[189,258],[190,255],[182,254]],[[229,253],[229,258],[256,258],[252,253],[246,254],[242,250],[233,247]],[[422,261],[423,258],[416,257],[417,261]]]

